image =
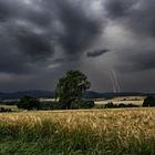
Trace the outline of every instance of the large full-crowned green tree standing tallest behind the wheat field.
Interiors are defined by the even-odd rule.
[[[71,108],[75,101],[82,100],[85,91],[91,87],[87,76],[80,71],[69,71],[59,80],[55,97],[63,108]]]

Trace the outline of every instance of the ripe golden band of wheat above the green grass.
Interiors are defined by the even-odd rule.
[[[17,130],[23,130],[24,125],[29,127],[35,127],[37,125],[45,127],[43,126],[46,125],[44,122],[61,125],[61,130],[68,131],[82,127],[87,132],[94,131],[97,135],[115,131],[122,140],[131,136],[136,138],[155,136],[155,108],[0,114],[0,124],[3,127],[12,126],[12,130],[16,130],[16,127]],[[48,130],[50,132],[50,128]]]

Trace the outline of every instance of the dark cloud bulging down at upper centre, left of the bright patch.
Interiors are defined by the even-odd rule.
[[[68,1],[60,0],[56,3],[60,7],[59,16],[65,29],[64,34],[60,37],[60,44],[69,54],[83,52],[100,35],[102,22],[89,18],[85,10],[78,8],[79,6],[73,7]]]

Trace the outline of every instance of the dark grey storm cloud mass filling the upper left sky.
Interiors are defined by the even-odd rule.
[[[31,72],[35,61],[53,53],[51,38],[40,32],[48,23],[45,12],[24,1],[0,1],[0,72]]]

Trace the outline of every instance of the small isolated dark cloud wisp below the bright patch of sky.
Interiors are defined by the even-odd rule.
[[[91,52],[87,52],[87,58],[96,58],[96,56],[101,56],[102,54],[104,53],[107,53],[110,52],[107,49],[104,49],[104,50],[95,50],[95,51],[91,51]]]

